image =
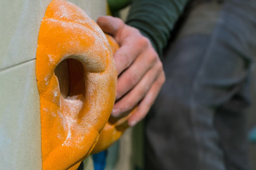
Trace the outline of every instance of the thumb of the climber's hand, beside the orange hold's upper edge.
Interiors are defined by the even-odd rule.
[[[108,33],[114,38],[118,36],[124,27],[124,22],[121,19],[113,16],[100,16],[97,19],[97,24],[100,26],[103,32]]]

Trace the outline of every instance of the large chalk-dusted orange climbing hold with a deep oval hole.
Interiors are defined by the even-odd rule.
[[[69,75],[61,75],[61,69]],[[108,121],[117,73],[105,35],[76,5],[53,0],[47,7],[38,36],[36,78],[43,169],[77,169]]]

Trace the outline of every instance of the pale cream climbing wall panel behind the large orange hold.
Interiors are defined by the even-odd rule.
[[[0,2],[1,169],[42,169],[35,57],[39,27],[50,2]],[[106,15],[106,1],[70,2],[81,7],[94,21]]]

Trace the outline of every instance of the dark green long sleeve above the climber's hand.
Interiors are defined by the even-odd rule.
[[[133,0],[126,24],[149,38],[159,55],[188,0]]]

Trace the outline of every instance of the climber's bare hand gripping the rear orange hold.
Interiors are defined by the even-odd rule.
[[[138,29],[112,16],[101,16],[97,23],[120,46],[114,55],[118,80],[111,115],[117,118],[125,116],[126,111],[138,105],[128,120],[133,126],[146,116],[165,81],[162,62],[149,39]]]

